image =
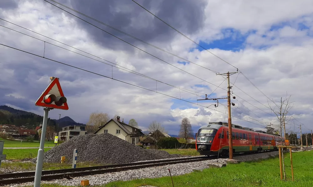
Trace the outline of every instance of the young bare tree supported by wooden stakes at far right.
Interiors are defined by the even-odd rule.
[[[291,110],[291,108],[293,107],[293,102],[290,102],[291,96],[287,96],[283,99],[282,97],[280,98],[280,101],[274,101],[274,99],[272,99],[271,101],[275,104],[275,106],[271,106],[269,101],[269,108],[273,111],[273,113],[275,113],[279,124],[278,125],[272,125],[272,127],[276,128],[277,131],[276,133],[278,133],[280,135],[280,141],[281,144],[283,145],[283,140],[282,140],[282,135],[284,134],[285,137],[285,125],[289,124],[290,120],[295,116],[294,114],[291,115],[287,115],[289,113],[289,111]],[[284,133],[283,133],[283,129],[284,129]],[[282,154],[282,159],[283,159],[283,170],[284,170],[284,179],[286,180],[286,172],[285,172],[285,161],[284,161],[284,153],[283,151],[281,151]]]

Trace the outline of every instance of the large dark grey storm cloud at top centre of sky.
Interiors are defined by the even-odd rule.
[[[69,2],[65,0],[59,2],[69,5]],[[71,5],[69,6],[73,7],[75,10],[147,42],[158,41],[168,43],[172,40],[173,36],[177,34],[177,32],[172,28],[153,17],[149,12],[146,12],[143,8],[139,7],[136,3],[130,0],[94,0],[92,3],[85,0],[75,0],[70,3]],[[143,7],[146,7],[148,10],[151,10],[151,12],[156,13],[156,16],[160,17],[162,20],[187,35],[195,33],[203,26],[205,19],[204,8],[207,4],[207,2],[203,0],[162,1],[158,5],[156,5],[156,2],[153,1],[139,1],[138,3]],[[62,6],[60,7],[73,13],[69,9]],[[52,8],[55,10],[57,9],[56,7]],[[60,9],[58,10],[62,11]],[[68,13],[65,14],[69,15]],[[87,21],[92,21],[89,18],[81,16],[77,13],[75,13],[75,15],[78,15],[80,18]],[[73,16],[69,15],[69,17]],[[90,33],[94,41],[99,42],[101,45],[115,49],[125,49],[125,47],[131,49],[128,44],[123,41],[119,41],[98,28],[84,21],[78,19],[77,21],[86,31]],[[109,31],[115,36],[121,37],[126,41],[131,43],[139,42],[102,24],[94,21],[92,21],[92,23],[95,23],[100,28]]]

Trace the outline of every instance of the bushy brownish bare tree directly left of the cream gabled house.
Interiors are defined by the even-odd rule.
[[[89,121],[86,125],[87,132],[95,132],[100,126],[104,125],[110,120],[107,113],[91,113],[89,116]]]

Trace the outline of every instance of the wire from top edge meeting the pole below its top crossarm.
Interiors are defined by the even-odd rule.
[[[48,1],[46,1],[46,0],[44,0],[44,1],[45,1],[45,2],[48,2]],[[48,3],[51,4],[51,5],[53,5],[53,6],[55,6],[55,7],[58,7],[58,6],[54,5],[54,4],[52,4],[51,2],[48,2]],[[78,19],[80,19],[80,20],[82,20],[82,21],[84,21],[84,22],[86,22],[86,23],[88,23],[88,24],[90,24],[90,25],[92,25],[92,26],[95,26],[94,24],[92,24],[92,23],[90,23],[90,22],[87,22],[86,20],[84,20],[84,19],[82,19],[82,18],[80,18],[80,17],[78,17],[78,16],[75,16],[74,14],[72,14],[72,13],[70,13],[70,12],[68,12],[68,11],[66,11],[66,10],[64,10],[64,9],[62,9],[61,7],[58,7],[58,8],[61,9],[61,10],[63,10],[64,12],[67,12],[67,13],[73,15],[74,17],[77,17]],[[106,33],[108,33],[109,35],[111,35],[111,36],[113,36],[113,37],[115,37],[115,38],[117,38],[117,39],[119,39],[119,40],[121,40],[121,41],[124,41],[125,43],[127,43],[127,44],[129,44],[129,45],[131,45],[131,46],[133,46],[133,47],[135,47],[135,48],[141,50],[142,52],[145,52],[146,54],[151,55],[151,56],[155,57],[156,59],[161,60],[162,62],[165,62],[165,63],[167,63],[167,64],[169,64],[169,65],[171,65],[171,66],[173,66],[173,67],[175,67],[175,68],[177,68],[177,69],[179,69],[179,70],[182,70],[182,69],[178,68],[177,66],[172,65],[172,64],[166,62],[165,60],[162,60],[162,59],[160,59],[160,58],[158,58],[158,57],[156,57],[156,56],[154,56],[154,55],[152,55],[152,54],[146,52],[145,50],[142,50],[142,49],[140,49],[139,47],[136,47],[136,46],[132,45],[131,43],[129,43],[129,42],[127,42],[127,41],[125,41],[125,40],[123,40],[123,39],[121,39],[121,38],[119,38],[119,37],[113,35],[113,34],[111,34],[110,32],[101,29],[100,27],[97,27],[97,26],[95,26],[95,27],[98,28],[98,29],[100,29],[100,30],[102,30],[102,31],[104,31],[104,32],[106,32]],[[194,77],[196,77],[196,78],[198,78],[198,79],[201,79],[200,77],[198,77],[198,76],[196,76],[196,75],[194,75],[194,74],[191,74],[191,73],[189,73],[189,72],[187,72],[187,71],[185,71],[185,70],[182,70],[182,71],[185,72],[185,73],[187,73],[187,74],[190,74],[190,75],[192,75],[192,76],[194,76]],[[205,81],[205,82],[207,82],[207,83],[209,83],[209,84],[212,84],[212,83],[210,83],[210,82],[208,82],[208,81],[206,81],[206,80],[204,80],[204,79],[201,79],[201,80],[203,80],[203,81]],[[212,85],[217,86],[217,85],[215,85],[215,84],[212,84]],[[221,87],[220,87],[220,88],[221,88]],[[223,88],[221,88],[221,89],[223,89]],[[223,89],[223,90],[226,90],[226,89]]]

